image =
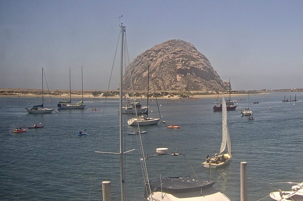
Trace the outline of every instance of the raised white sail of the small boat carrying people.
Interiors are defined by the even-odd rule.
[[[220,154],[225,150],[226,144],[228,145],[228,154],[230,155],[230,138],[227,127],[227,110],[226,102],[224,97],[222,97],[222,142],[220,148]]]

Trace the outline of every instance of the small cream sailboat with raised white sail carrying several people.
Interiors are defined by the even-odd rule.
[[[225,151],[226,145],[227,145],[227,153],[222,154]],[[223,97],[222,98],[222,142],[221,142],[220,152],[219,155],[215,154],[213,158],[208,157],[206,161],[202,163],[202,165],[204,167],[221,167],[227,164],[230,159],[231,159],[230,136],[227,126],[226,102]]]

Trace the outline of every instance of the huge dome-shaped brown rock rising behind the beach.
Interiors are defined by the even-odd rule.
[[[147,90],[148,65],[150,86],[152,78],[155,90],[225,91],[229,88],[205,55],[182,40],[168,40],[141,53],[127,68],[124,86],[130,88],[130,69],[134,89]]]

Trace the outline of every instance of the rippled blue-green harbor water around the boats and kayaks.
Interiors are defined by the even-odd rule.
[[[240,163],[248,163],[248,200],[265,198],[269,182],[302,182],[303,96],[298,102],[282,102],[295,93],[251,95],[253,121],[240,111],[228,111],[231,135],[230,163],[222,168],[202,167],[206,154],[215,154],[221,144],[221,112],[213,112],[212,98],[173,100],[158,99],[162,120],[167,124],[142,126],[145,154],[156,148],[185,154],[199,179],[216,181],[214,187],[231,200],[240,200]],[[247,96],[234,96],[238,107],[247,108]],[[228,97],[225,97],[228,99]],[[59,110],[57,114],[28,114],[28,103],[38,98],[1,97],[0,104],[0,200],[102,200],[102,181],[112,182],[112,200],[120,200],[119,157],[95,154],[97,151],[119,151],[118,99],[86,100],[88,108],[99,111]],[[55,102],[58,99],[54,99]],[[261,102],[264,100],[264,102]],[[75,99],[73,101],[78,101]],[[169,101],[169,103],[166,103]],[[146,100],[140,100],[142,104]],[[295,103],[295,104],[294,104]],[[50,102],[45,102],[50,107]],[[54,104],[56,105],[56,104]],[[156,101],[149,102],[150,116],[158,115]],[[271,110],[268,110],[271,107]],[[131,115],[123,115],[125,150],[125,184],[127,200],[144,200],[144,184],[139,162],[137,137],[127,135]],[[15,134],[17,127],[45,125]],[[76,136],[87,129],[88,135]],[[149,179],[160,176],[193,175],[183,156],[153,157],[147,160]],[[271,200],[265,198],[263,200]]]

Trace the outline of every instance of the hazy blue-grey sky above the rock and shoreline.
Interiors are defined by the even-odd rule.
[[[120,21],[130,61],[170,39],[193,44],[235,90],[303,88],[303,1],[0,1],[0,88],[119,84]],[[121,19],[118,17],[123,15]],[[116,65],[117,64],[117,65]],[[40,81],[39,81],[40,80]]]

